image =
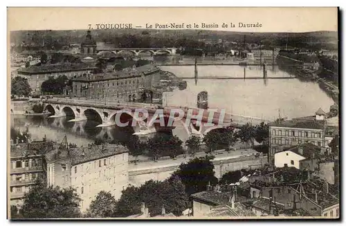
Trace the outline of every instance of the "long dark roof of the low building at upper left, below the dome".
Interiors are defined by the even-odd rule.
[[[88,64],[50,64],[44,66],[31,66],[29,68],[19,68],[19,73],[59,73],[74,70],[93,70],[95,66],[89,66]]]

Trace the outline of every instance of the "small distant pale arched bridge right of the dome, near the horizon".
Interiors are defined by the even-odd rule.
[[[115,56],[120,53],[131,53],[138,56],[140,53],[150,53],[150,55],[157,55],[166,53],[168,55],[176,55],[176,48],[109,48],[98,49],[98,55],[102,53],[112,53]]]

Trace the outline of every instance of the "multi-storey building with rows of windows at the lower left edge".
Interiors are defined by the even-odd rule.
[[[44,153],[54,148],[53,142],[11,144],[10,147],[10,205],[20,207],[24,194],[46,178]]]

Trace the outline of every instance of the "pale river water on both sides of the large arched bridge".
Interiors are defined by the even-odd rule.
[[[191,60],[192,61],[192,60]],[[194,66],[161,66],[178,77],[193,77]],[[229,76],[244,78],[262,77],[259,66],[198,66],[199,77]],[[275,66],[267,67],[268,77],[292,77],[288,72]],[[226,109],[238,115],[275,120],[279,117],[301,117],[313,115],[318,108],[329,111],[334,104],[316,82],[303,82],[300,79],[185,79],[188,87],[184,91],[173,91],[166,95],[167,104],[173,106],[196,106],[197,94],[208,92],[208,105],[211,109]],[[44,135],[48,140],[61,141],[66,134],[69,142],[86,145],[96,138],[117,140],[126,144],[137,128],[107,127],[95,128],[96,122],[67,122],[71,118],[48,118],[43,116],[12,116],[11,126],[26,129],[33,140],[41,140]],[[175,124],[173,135],[181,140],[188,138],[182,124]],[[143,141],[147,138],[141,138]]]

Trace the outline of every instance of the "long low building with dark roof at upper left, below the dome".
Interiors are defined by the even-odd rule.
[[[49,77],[57,78],[60,75],[65,75],[71,79],[73,77],[87,75],[95,69],[97,69],[95,66],[89,66],[87,64],[48,64],[44,66],[18,68],[17,75],[26,77],[30,88],[34,92],[41,93],[41,85]]]

